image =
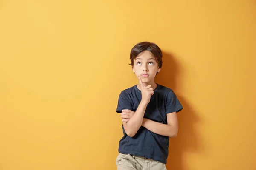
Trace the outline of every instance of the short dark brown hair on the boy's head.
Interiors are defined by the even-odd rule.
[[[143,51],[150,51],[154,57],[156,57],[156,62],[158,64],[158,68],[162,68],[162,51],[161,49],[154,43],[154,42],[139,42],[137,43],[132,49],[131,49],[131,54],[130,54],[130,59],[131,59],[131,64],[129,65],[134,65],[134,59],[140,55]]]

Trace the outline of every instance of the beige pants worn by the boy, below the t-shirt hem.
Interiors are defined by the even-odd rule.
[[[116,158],[116,166],[117,170],[167,170],[161,162],[122,153]]]

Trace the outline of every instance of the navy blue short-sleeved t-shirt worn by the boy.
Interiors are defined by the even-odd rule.
[[[141,101],[141,91],[134,85],[131,88],[123,90],[118,99],[116,108],[117,113],[122,113],[123,109],[136,111]],[[175,93],[163,86],[157,84],[154,94],[145,110],[144,117],[155,122],[167,124],[167,114],[179,112],[183,109]],[[142,156],[145,158],[160,161],[166,164],[168,157],[169,137],[158,135],[145,127],[141,126],[135,136],[130,137],[125,133],[119,142],[119,153]]]

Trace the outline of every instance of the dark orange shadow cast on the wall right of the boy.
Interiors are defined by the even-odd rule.
[[[176,79],[179,78],[182,72],[180,68],[175,57],[163,51],[163,68],[160,73],[157,74],[156,82],[171,88],[174,92],[177,90],[182,91],[182,85],[176,84]],[[186,96],[186,94],[182,95]],[[195,132],[195,124],[197,124],[200,119],[196,116],[198,114],[195,114],[192,106],[189,105],[189,102],[186,102],[186,98],[183,96],[177,95],[181,105],[183,105],[183,110],[177,113],[179,119],[178,135],[175,138],[170,138],[169,142],[169,156],[166,167],[170,170],[189,169],[189,164],[185,164],[185,154],[199,153],[203,150],[203,144],[198,140],[198,134]]]

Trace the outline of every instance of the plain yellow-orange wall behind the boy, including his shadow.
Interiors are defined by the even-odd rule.
[[[254,0],[1,0],[0,170],[114,170],[129,52],[184,109],[169,170],[256,170]]]

